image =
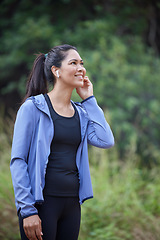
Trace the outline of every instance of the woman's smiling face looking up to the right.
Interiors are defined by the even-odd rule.
[[[86,69],[80,55],[73,49],[69,50],[59,69],[58,81],[73,88],[82,87],[85,74]]]

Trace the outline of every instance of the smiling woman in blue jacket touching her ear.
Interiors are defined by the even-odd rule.
[[[11,173],[21,239],[78,239],[80,205],[93,197],[87,143],[109,148],[111,129],[77,49],[35,59],[14,127]],[[53,84],[48,92],[47,81]],[[71,101],[76,88],[81,103]]]

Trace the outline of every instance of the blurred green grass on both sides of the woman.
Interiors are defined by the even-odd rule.
[[[0,120],[0,239],[19,240],[9,170],[13,123]],[[82,205],[79,240],[159,240],[159,166],[119,162],[116,147],[89,148],[94,198]]]

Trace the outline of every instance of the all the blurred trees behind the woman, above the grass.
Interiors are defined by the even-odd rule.
[[[110,112],[119,158],[159,162],[159,10],[158,0],[1,1],[1,103],[18,108],[34,53],[76,45]]]

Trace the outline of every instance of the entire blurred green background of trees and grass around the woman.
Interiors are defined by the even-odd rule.
[[[89,147],[95,197],[79,239],[160,239],[159,29],[158,0],[1,1],[0,239],[20,239],[9,162],[34,54],[64,43],[77,47],[115,136],[112,149]]]

